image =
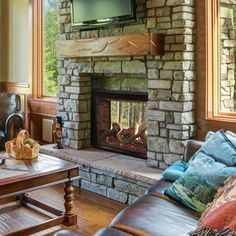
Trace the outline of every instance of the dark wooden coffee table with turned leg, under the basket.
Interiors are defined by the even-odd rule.
[[[0,156],[3,155],[5,154],[0,154]],[[55,216],[46,222],[10,232],[7,235],[30,235],[59,224],[75,225],[77,216],[73,210],[74,188],[72,181],[77,179],[78,175],[77,164],[44,154],[40,154],[34,160],[25,161],[7,158],[6,163],[0,165],[0,201],[9,203],[12,199],[18,199],[23,205],[33,205]],[[30,198],[30,194],[27,193],[60,183],[65,183],[64,212]]]

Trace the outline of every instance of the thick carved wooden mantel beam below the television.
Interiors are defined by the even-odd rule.
[[[137,33],[92,39],[58,40],[56,51],[60,58],[162,55],[164,35]]]

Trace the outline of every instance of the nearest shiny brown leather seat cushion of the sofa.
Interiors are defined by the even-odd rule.
[[[125,208],[111,226],[135,236],[187,236],[198,220],[188,208],[145,195]]]

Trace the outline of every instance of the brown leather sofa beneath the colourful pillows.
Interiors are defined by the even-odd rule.
[[[203,142],[189,140],[184,159],[189,158]],[[127,206],[111,224],[95,233],[95,236],[187,236],[199,221],[199,213],[188,209],[164,194],[171,182],[161,179],[136,202]],[[62,230],[56,236],[80,235]]]

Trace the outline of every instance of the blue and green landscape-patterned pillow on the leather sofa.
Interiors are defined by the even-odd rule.
[[[218,188],[232,175],[236,175],[236,167],[228,167],[200,151],[166,194],[195,211],[203,212]]]

